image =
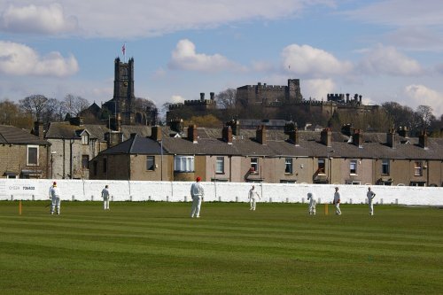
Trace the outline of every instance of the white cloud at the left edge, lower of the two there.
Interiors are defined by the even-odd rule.
[[[53,51],[40,57],[32,48],[0,41],[0,73],[65,77],[77,73],[79,66],[74,56],[62,57]]]

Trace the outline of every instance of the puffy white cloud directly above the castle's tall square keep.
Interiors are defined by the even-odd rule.
[[[284,48],[281,56],[284,69],[307,78],[347,74],[353,68],[350,62],[340,61],[329,52],[309,45],[291,44]]]

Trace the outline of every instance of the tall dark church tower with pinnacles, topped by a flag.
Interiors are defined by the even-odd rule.
[[[120,62],[120,58],[114,61],[113,99],[106,106],[114,112],[121,114],[121,124],[135,124],[135,100],[134,95],[134,58],[129,58],[128,63]],[[114,105],[115,104],[115,105]]]

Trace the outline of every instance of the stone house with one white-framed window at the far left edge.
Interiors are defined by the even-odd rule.
[[[0,125],[0,178],[50,178],[50,158],[51,144],[43,139],[42,125],[36,125],[35,135]]]

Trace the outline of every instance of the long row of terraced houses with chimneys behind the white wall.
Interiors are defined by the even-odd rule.
[[[89,161],[90,179],[443,186],[443,139],[350,126],[302,131],[152,127]]]

